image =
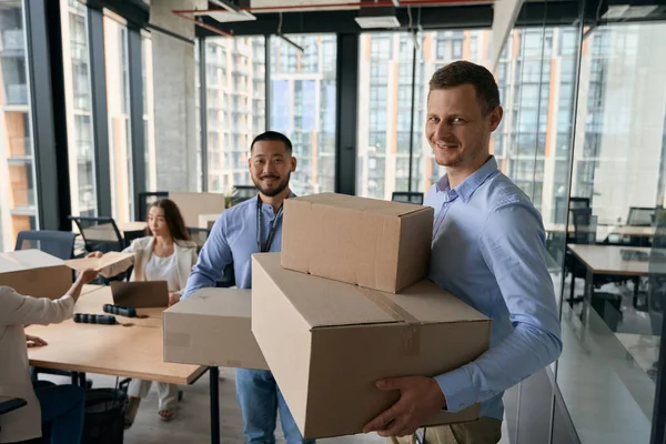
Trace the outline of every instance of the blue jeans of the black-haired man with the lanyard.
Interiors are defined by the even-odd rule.
[[[314,444],[314,440],[303,440],[271,372],[236,369],[235,379],[245,444],[275,443],[278,410],[287,444]]]

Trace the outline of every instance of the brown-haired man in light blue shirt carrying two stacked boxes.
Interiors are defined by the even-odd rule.
[[[414,442],[416,427],[442,408],[458,412],[475,403],[480,421],[428,427],[426,442],[497,443],[504,391],[562,351],[541,215],[490,154],[502,113],[497,84],[484,67],[458,61],[433,74],[425,135],[446,174],[425,198],[435,209],[430,279],[493,320],[491,347],[435,377],[379,381],[380,390],[397,390],[401,397],[365,432],[394,443]]]

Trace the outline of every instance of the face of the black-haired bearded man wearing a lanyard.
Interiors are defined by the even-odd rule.
[[[262,194],[272,198],[283,192],[295,170],[296,159],[290,155],[283,142],[262,140],[254,143],[250,175]]]

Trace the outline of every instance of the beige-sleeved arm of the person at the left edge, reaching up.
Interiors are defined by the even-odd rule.
[[[83,285],[97,276],[93,270],[79,274],[77,281],[60,299],[24,296],[6,286],[0,291],[0,324],[26,325],[59,323],[73,316],[74,304]]]

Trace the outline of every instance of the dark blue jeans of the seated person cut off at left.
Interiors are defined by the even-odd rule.
[[[49,427],[51,444],[79,444],[85,416],[85,391],[49,381],[34,381],[32,386],[42,412],[42,428]]]

